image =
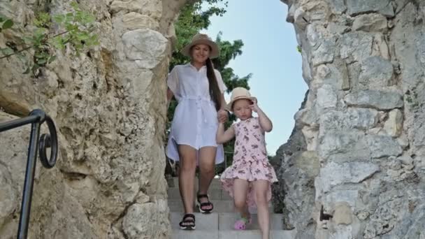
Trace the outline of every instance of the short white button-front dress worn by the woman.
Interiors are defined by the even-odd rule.
[[[223,93],[227,88],[222,75],[214,71],[220,92]],[[192,64],[185,64],[175,66],[168,75],[168,88],[178,101],[166,147],[168,158],[174,161],[179,161],[178,145],[190,145],[196,150],[206,146],[217,147],[215,164],[224,161],[223,145],[217,145],[215,140],[217,110],[210,97],[206,72],[206,66],[197,71]],[[199,160],[199,157],[196,158]]]

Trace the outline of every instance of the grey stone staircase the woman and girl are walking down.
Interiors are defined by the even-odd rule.
[[[196,180],[197,182],[197,180]],[[197,186],[195,186],[196,191]],[[253,223],[245,231],[236,231],[233,224],[238,218],[234,211],[232,198],[222,190],[219,179],[212,180],[208,191],[214,210],[208,215],[196,212],[196,230],[182,231],[178,223],[183,217],[183,205],[180,201],[178,178],[168,180],[168,206],[171,212],[172,239],[261,239],[257,214],[252,214]],[[292,239],[295,231],[282,229],[282,215],[271,214],[271,239]]]

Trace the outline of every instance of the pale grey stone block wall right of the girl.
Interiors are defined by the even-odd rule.
[[[274,159],[285,224],[298,238],[424,238],[425,3],[284,3],[310,88]]]

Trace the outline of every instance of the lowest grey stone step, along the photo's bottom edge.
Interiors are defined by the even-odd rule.
[[[259,239],[261,232],[259,230],[246,231],[182,231],[173,230],[172,239]],[[293,239],[293,231],[272,230],[270,239]]]

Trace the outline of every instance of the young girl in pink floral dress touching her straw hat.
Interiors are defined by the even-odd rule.
[[[225,143],[236,136],[233,164],[226,168],[221,180],[226,191],[233,196],[240,219],[236,230],[245,230],[251,223],[248,207],[257,205],[258,221],[263,239],[269,236],[268,201],[271,199],[271,183],[277,182],[275,171],[268,162],[264,132],[270,132],[272,122],[257,106],[257,99],[247,89],[233,89],[228,108],[240,119],[224,131],[224,120],[219,122],[217,143]],[[252,111],[258,117],[252,116]]]

